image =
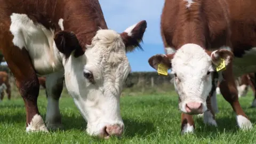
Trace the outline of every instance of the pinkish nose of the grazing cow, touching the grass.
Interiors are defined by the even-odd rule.
[[[124,126],[115,124],[115,125],[106,125],[103,129],[103,138],[109,139],[111,136],[121,137],[124,130]]]

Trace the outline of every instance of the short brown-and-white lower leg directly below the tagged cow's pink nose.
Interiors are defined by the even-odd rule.
[[[195,123],[192,115],[181,114],[181,134],[194,132]]]

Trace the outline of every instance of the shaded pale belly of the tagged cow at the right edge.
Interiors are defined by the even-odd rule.
[[[235,58],[233,63],[234,76],[256,73],[256,48],[247,51],[242,58]]]

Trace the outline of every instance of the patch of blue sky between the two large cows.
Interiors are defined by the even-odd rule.
[[[164,0],[99,0],[108,28],[122,33],[127,27],[146,20],[147,29],[141,44],[144,51],[135,50],[127,53],[132,71],[155,71],[148,64],[148,59],[164,53],[160,35],[160,17]]]

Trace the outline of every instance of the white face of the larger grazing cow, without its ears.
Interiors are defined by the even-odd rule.
[[[122,133],[119,101],[131,68],[121,36],[113,30],[99,30],[84,55],[71,55],[63,64],[67,90],[87,120],[86,131],[102,135],[115,126]]]

